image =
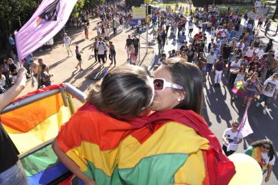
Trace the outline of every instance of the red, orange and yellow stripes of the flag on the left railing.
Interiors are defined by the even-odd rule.
[[[39,95],[46,91],[57,90],[60,86],[62,85],[42,88],[14,101]],[[60,93],[0,115],[3,127],[8,132],[20,154],[55,138],[60,126],[66,123],[70,117],[71,112],[68,107],[64,106]]]

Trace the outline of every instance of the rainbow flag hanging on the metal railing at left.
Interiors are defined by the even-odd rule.
[[[38,96],[52,90],[58,90],[62,84],[48,86],[15,99],[20,101],[31,96]],[[3,127],[8,132],[20,154],[57,136],[60,126],[71,117],[68,107],[64,106],[62,95],[55,93],[44,99],[34,101],[0,115]],[[21,159],[29,184],[48,184],[55,178],[66,173],[68,169],[58,161],[51,145],[31,153]]]

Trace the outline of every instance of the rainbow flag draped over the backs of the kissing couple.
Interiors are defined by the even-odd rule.
[[[135,128],[86,104],[62,126],[57,141],[97,184],[213,184],[217,175],[227,176],[209,177],[209,140],[175,121]]]

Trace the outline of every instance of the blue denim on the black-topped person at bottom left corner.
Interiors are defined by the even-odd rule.
[[[14,166],[0,173],[1,185],[27,185],[25,171],[21,166],[21,162],[16,162]]]

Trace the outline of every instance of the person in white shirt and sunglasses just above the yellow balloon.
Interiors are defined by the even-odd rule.
[[[240,123],[233,121],[231,128],[227,128],[222,136],[223,139],[223,151],[226,156],[230,156],[238,149],[238,144],[242,143],[242,132],[238,130]]]

